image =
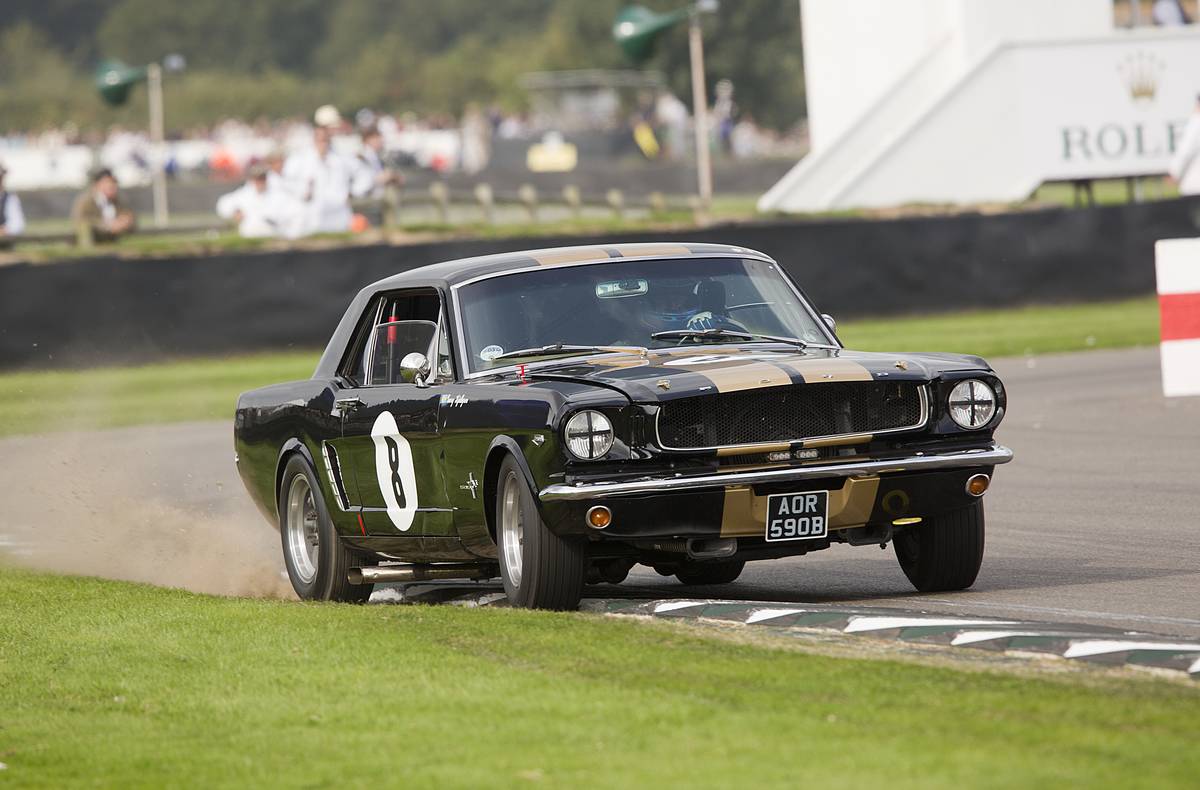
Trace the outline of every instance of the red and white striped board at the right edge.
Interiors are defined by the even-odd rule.
[[[1200,239],[1154,244],[1163,395],[1200,395]]]

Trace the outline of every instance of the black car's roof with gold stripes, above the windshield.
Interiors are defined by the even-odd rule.
[[[516,271],[530,267],[556,267],[600,263],[613,258],[684,258],[706,256],[738,256],[770,261],[762,252],[727,244],[694,244],[690,241],[650,241],[642,244],[611,244],[578,247],[520,250],[433,263],[385,277],[367,286],[368,291],[403,288],[416,283],[440,282],[454,286],[476,277]]]

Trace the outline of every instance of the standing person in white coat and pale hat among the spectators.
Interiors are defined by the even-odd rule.
[[[288,157],[283,180],[304,204],[305,233],[346,233],[350,229],[350,196],[359,164],[332,149],[332,130],[317,126],[313,148]]]

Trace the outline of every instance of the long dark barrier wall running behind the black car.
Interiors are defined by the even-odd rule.
[[[648,240],[739,244],[839,318],[1154,292],[1154,241],[1195,237],[1200,198],[1012,214],[809,220],[703,231],[448,240],[0,267],[0,367],[64,367],[325,343],[362,286],[437,261]]]

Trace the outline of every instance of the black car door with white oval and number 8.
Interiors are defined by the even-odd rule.
[[[352,509],[365,534],[445,534],[452,517],[442,472],[438,411],[442,388],[406,378],[409,354],[434,357],[440,299],[432,289],[388,294],[378,311],[361,384],[338,394],[342,438],[337,455]]]

